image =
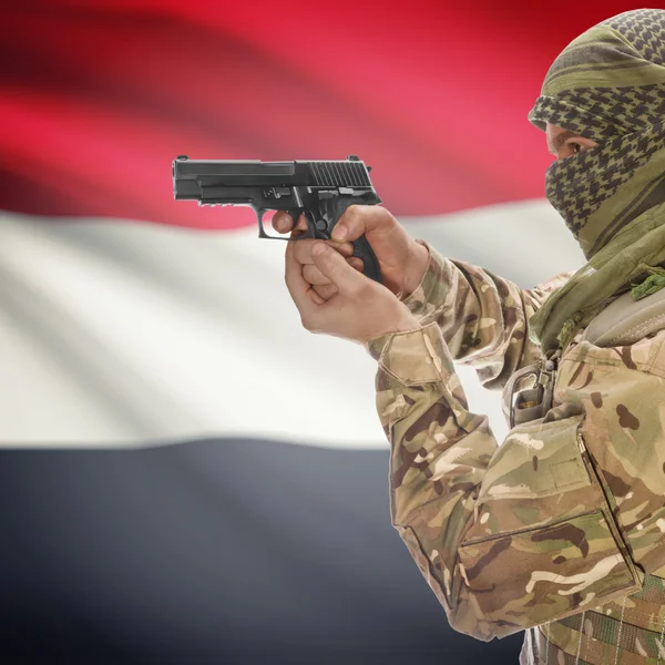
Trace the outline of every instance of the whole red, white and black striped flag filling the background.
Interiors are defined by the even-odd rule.
[[[449,628],[390,526],[369,356],[303,330],[284,245],[175,203],[171,162],[358,154],[415,237],[529,287],[582,254],[526,113],[637,7],[3,9],[1,663],[516,663],[521,635]]]

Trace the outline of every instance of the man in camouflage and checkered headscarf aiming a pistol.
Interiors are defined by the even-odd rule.
[[[665,285],[665,11],[573,41],[530,120],[557,157],[546,195],[589,259],[572,277],[522,290],[356,206],[336,242],[288,244],[286,283],[306,328],[378,361],[392,523],[451,625],[528,630],[522,663],[665,663],[665,330],[584,339],[618,295]],[[385,286],[352,269],[345,241],[362,233]],[[498,447],[453,360],[490,388],[535,364],[551,403]]]

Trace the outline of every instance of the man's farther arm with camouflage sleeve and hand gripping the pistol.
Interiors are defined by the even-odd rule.
[[[304,219],[299,224],[307,227]],[[293,228],[293,221],[277,213],[273,226],[285,233]],[[528,320],[567,275],[522,290],[482,268],[443,258],[427,243],[411,238],[381,206],[350,206],[332,231],[338,241],[332,246],[348,258],[350,245],[345,248],[342,241],[361,236],[380,263],[382,284],[402,298],[417,321],[439,325],[452,357],[473,365],[485,388],[502,387],[515,369],[540,359],[538,347],[529,340]],[[337,294],[337,287],[314,265],[310,241],[297,243],[294,256],[321,301]]]

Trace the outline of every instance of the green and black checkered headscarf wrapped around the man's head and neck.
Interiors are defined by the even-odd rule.
[[[597,146],[555,162],[545,194],[589,263],[532,317],[543,350],[565,346],[635,280],[665,285],[665,11],[628,11],[556,58],[529,120]],[[649,282],[651,280],[651,282]],[[655,287],[654,287],[655,288]]]

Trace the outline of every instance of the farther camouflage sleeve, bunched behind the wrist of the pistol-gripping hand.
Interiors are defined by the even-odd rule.
[[[405,304],[421,325],[439,326],[453,360],[473,366],[485,388],[502,388],[516,369],[540,358],[540,349],[529,339],[529,318],[571,273],[522,289],[418,242],[428,248],[430,263]]]

